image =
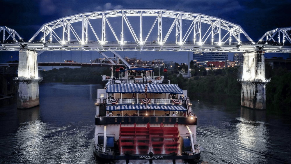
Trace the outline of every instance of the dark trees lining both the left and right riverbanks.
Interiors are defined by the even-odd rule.
[[[171,67],[172,66],[172,67]],[[188,90],[188,95],[212,95],[240,97],[242,85],[237,82],[242,78],[242,66],[224,69],[210,69],[194,66],[190,62],[190,78],[179,75],[179,71],[188,70],[185,64],[172,64],[168,66],[168,80],[171,84],[178,84],[182,89]],[[160,71],[160,73],[159,73]],[[163,67],[154,70],[155,76],[164,75]],[[269,64],[265,65],[266,78],[271,82],[266,86],[267,104],[291,105],[291,73],[287,69],[274,68]],[[59,68],[48,71],[40,71],[39,76],[43,77],[42,82],[88,82],[91,84],[103,84],[101,75],[111,75],[109,68],[81,67],[81,68]]]

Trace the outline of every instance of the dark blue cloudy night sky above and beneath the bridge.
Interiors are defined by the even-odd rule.
[[[168,10],[179,10],[193,13],[202,13],[221,19],[230,21],[240,25],[244,31],[254,41],[258,41],[266,31],[276,29],[278,27],[291,27],[291,1],[290,0],[1,0],[1,19],[0,26],[7,26],[17,31],[24,39],[30,39],[36,31],[45,23],[83,12],[109,10],[109,9],[142,9],[142,8],[159,8]],[[163,53],[158,54],[152,52],[142,52],[137,54],[137,58],[145,60],[164,59],[168,61],[168,56]],[[18,60],[18,52],[0,52],[0,63],[11,60]],[[48,55],[45,52],[42,55]],[[60,52],[57,52],[60,54]],[[135,52],[120,53],[122,56],[135,57]],[[174,62],[187,62],[187,52],[181,57],[176,57],[173,54],[171,57]],[[66,54],[63,54],[65,56]],[[76,56],[67,53],[68,57]],[[280,54],[282,55],[282,54]],[[85,56],[87,59],[85,59]],[[87,61],[98,58],[99,54],[84,54],[82,59],[76,56],[79,61]],[[109,54],[110,56],[110,54]],[[231,55],[230,55],[231,56]],[[46,57],[39,57],[38,60],[45,61]],[[51,57],[52,58],[52,57]],[[56,57],[55,57],[56,58]],[[232,60],[231,57],[229,57]],[[63,59],[58,59],[63,60]],[[56,61],[58,61],[56,59]]]

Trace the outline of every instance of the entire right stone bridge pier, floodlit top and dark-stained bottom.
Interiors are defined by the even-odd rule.
[[[252,109],[266,109],[266,82],[264,52],[244,54],[241,106]]]

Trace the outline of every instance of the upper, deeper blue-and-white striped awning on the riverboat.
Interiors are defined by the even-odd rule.
[[[107,93],[144,93],[145,84],[109,84]],[[148,84],[148,93],[182,94],[183,91],[175,84]]]

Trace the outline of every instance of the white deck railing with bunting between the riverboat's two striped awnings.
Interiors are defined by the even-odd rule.
[[[141,104],[144,103],[144,98],[119,98],[107,99],[107,104]],[[182,100],[148,98],[152,104],[182,104]]]

